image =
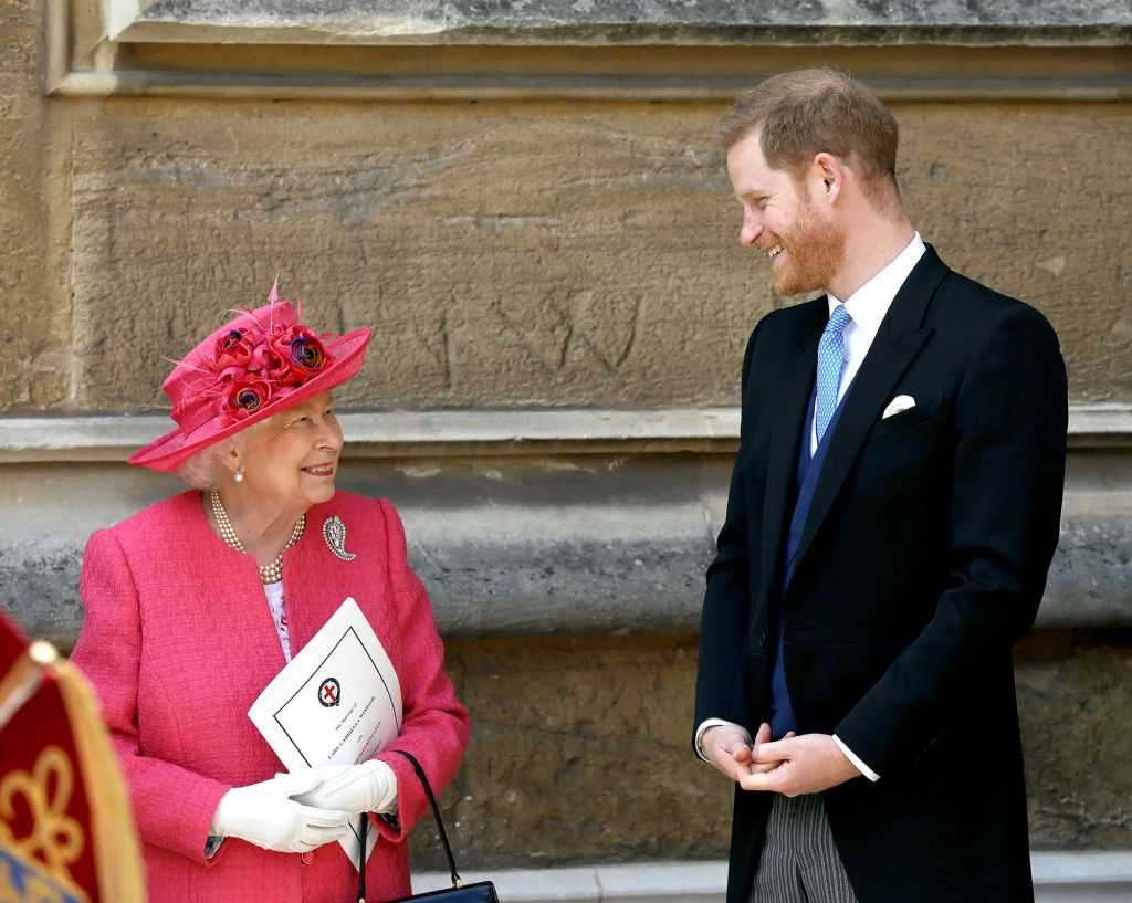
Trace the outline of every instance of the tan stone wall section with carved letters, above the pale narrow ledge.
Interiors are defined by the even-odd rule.
[[[1126,106],[893,110],[924,236],[1050,318],[1075,401],[1132,401]],[[280,269],[315,322],[375,328],[349,407],[732,404],[783,302],[736,241],[719,111],[44,103],[12,123],[0,410],[163,411],[163,358]]]

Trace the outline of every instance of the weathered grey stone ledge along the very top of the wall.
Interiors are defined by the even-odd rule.
[[[1029,38],[1118,38],[1132,26],[1113,0],[994,0],[935,3],[867,0],[820,5],[691,0],[534,0],[483,5],[473,0],[323,0],[281,8],[271,0],[109,0],[115,41],[243,43],[723,43],[770,41],[869,43],[941,40],[1005,43]],[[834,40],[835,38],[835,40]]]

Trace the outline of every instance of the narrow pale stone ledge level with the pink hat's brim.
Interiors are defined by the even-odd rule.
[[[739,408],[501,410],[344,413],[345,457],[451,457],[560,453],[730,452]],[[138,416],[0,418],[0,464],[112,462],[168,431],[172,421]],[[1073,405],[1073,447],[1132,446],[1132,405]]]

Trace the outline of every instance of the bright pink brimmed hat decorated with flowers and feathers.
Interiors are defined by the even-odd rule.
[[[288,301],[278,277],[267,304],[245,310],[175,362],[162,389],[177,429],[130,464],[175,471],[201,448],[351,379],[366,359],[370,330],[316,335]]]

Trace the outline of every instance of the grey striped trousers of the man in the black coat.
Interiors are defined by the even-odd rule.
[[[820,793],[775,794],[751,903],[857,903]]]

